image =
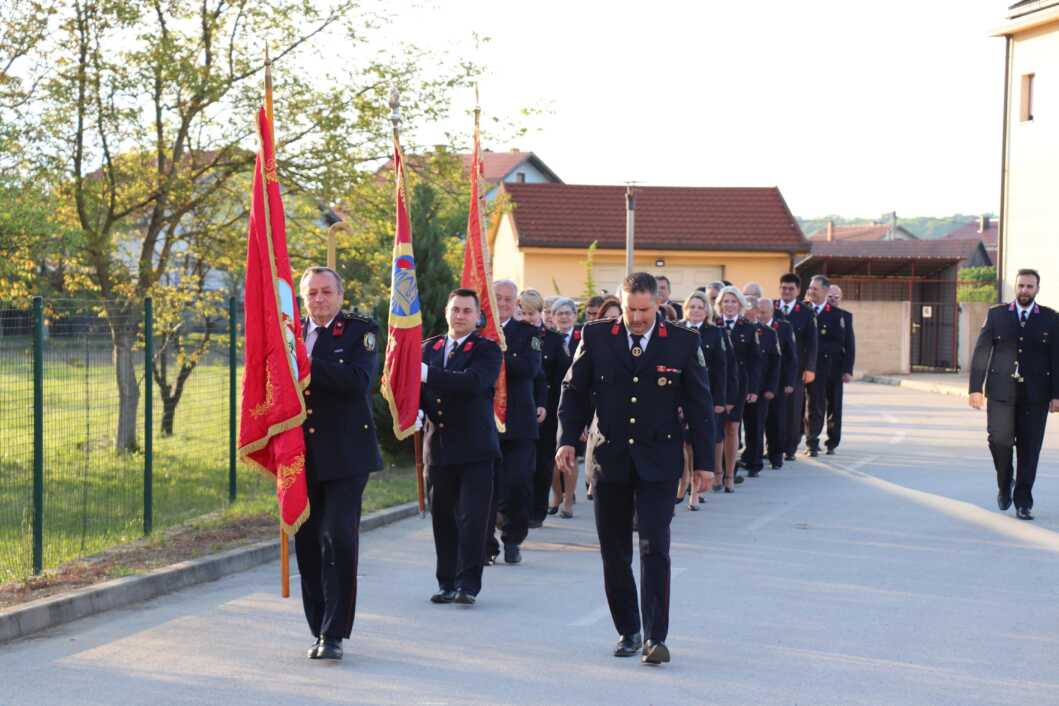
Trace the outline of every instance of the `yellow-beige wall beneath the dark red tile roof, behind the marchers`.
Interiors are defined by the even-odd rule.
[[[510,278],[521,289],[533,287],[543,294],[558,292],[579,296],[585,290],[587,249],[522,248],[510,216],[497,229],[492,246],[492,275]],[[658,260],[665,265],[657,266]],[[624,250],[596,250],[593,258],[596,287],[617,291],[625,276]],[[728,279],[740,287],[757,282],[769,296],[778,296],[779,276],[790,270],[787,253],[697,252],[638,250],[635,268],[654,275],[665,274],[672,284],[674,298],[683,301],[696,287],[713,279]]]

